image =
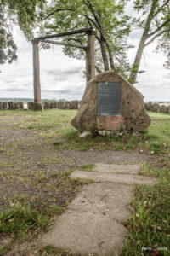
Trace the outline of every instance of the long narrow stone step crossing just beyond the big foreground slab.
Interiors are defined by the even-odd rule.
[[[106,172],[87,172],[87,171],[74,171],[70,177],[80,179],[92,179],[99,182],[110,183],[126,183],[126,184],[144,184],[155,185],[156,178],[146,177],[143,175],[131,175],[120,173],[106,173]]]

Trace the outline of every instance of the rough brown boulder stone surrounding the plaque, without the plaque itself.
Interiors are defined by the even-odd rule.
[[[122,83],[122,114],[121,116],[98,115],[98,83]],[[114,71],[99,73],[89,81],[82,97],[77,116],[71,125],[79,131],[129,130],[144,131],[150,125],[150,117],[144,108],[143,96],[138,90],[122,79]]]

